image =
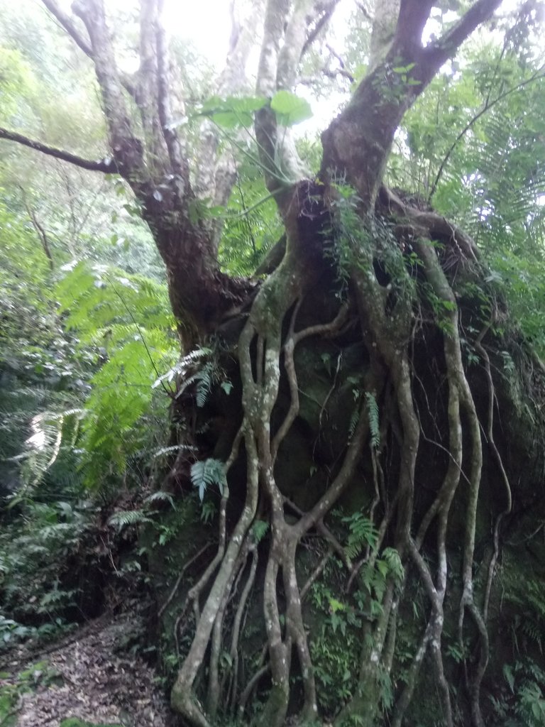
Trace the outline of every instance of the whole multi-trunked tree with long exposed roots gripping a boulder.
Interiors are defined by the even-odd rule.
[[[206,727],[222,704],[227,712],[233,705],[243,712],[257,690],[265,700],[259,723],[282,725],[288,708],[299,723],[315,720],[315,659],[302,601],[335,553],[347,569],[347,594],[344,602],[330,593],[329,608],[333,615],[344,612],[361,643],[358,674],[335,723],[371,725],[384,709],[400,725],[425,664],[437,686],[437,710],[453,725],[456,666],[452,659],[445,665],[447,622],[458,632],[467,712],[475,727],[482,726],[488,608],[500,526],[512,509],[509,468],[495,443],[499,384],[484,345],[503,304],[483,287],[487,272],[472,239],[429,206],[387,188],[384,173],[405,113],[501,0],[469,4],[427,43],[422,36],[432,0],[378,3],[366,75],[323,132],[315,177],[302,171],[291,134],[304,113],[292,89],[336,0],[267,0],[265,7],[246,9],[242,20],[233,12],[227,65],[214,98],[200,108],[196,151],[183,123],[191,110],[180,100],[185,93],[169,55],[162,0],[141,0],[140,67],[133,76],[116,62],[102,0],[76,0],[73,15],[55,0],[43,2],[94,64],[109,156],[93,161],[9,129],[0,129],[0,138],[89,171],[118,174],[132,189],[166,266],[184,354],[177,370],[185,380],[173,405],[179,450],[169,487],[193,483],[201,493],[213,486],[220,493],[217,552],[210,561],[197,559],[203,570],[175,619],[177,643],[184,619],[191,632],[188,640],[184,634],[185,646],[178,643],[174,709]],[[260,15],[256,95],[241,95],[251,28]],[[233,148],[257,156],[284,230],[260,277],[229,275],[218,263],[222,224],[214,210],[225,206],[235,185]],[[468,372],[466,330],[475,332],[480,377]],[[203,373],[199,360],[209,356],[203,347],[211,342],[214,366]],[[351,364],[344,361],[350,356]],[[323,390],[310,381],[316,361],[325,369]],[[225,372],[230,394],[221,387]],[[214,391],[207,408],[195,394],[205,374],[207,390]],[[429,387],[437,387],[435,403]],[[485,403],[476,393],[483,389]],[[314,410],[302,401],[311,394]],[[328,427],[332,395],[337,412]],[[509,405],[509,394],[503,395]],[[221,431],[202,435],[195,419],[203,418],[219,422]],[[310,445],[311,471],[290,479],[290,442],[302,436]],[[196,461],[187,447],[196,450]],[[423,491],[430,460],[437,472]],[[491,471],[499,494],[490,509],[493,537],[477,594],[479,494]],[[342,521],[345,549],[331,521],[360,478],[366,492],[361,510]],[[309,486],[314,493],[302,495]],[[455,500],[462,516],[453,515]],[[325,545],[314,552],[301,585],[302,543],[310,534]],[[450,568],[449,560],[455,563]],[[456,585],[449,584],[453,572]],[[351,594],[353,583],[358,588]],[[263,591],[267,648],[243,683],[239,637],[256,584]],[[425,594],[425,623],[405,663],[396,651],[397,630],[417,592]]]

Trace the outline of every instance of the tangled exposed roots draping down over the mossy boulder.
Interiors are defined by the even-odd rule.
[[[247,463],[246,500],[233,531],[227,533],[229,490],[225,488],[219,510],[217,553],[187,596],[187,603],[193,604],[195,635],[179,671],[172,699],[177,710],[192,725],[208,727],[219,715],[221,704],[225,704],[226,713],[233,715],[236,711],[238,717],[243,718],[251,696],[256,691],[262,696],[262,690],[268,684],[267,696],[259,712],[259,723],[265,723],[268,727],[282,727],[288,715],[294,669],[302,686],[302,706],[297,719],[299,723],[315,720],[318,716],[317,688],[302,601],[310,593],[312,586],[323,577],[326,564],[333,553],[347,569],[346,598],[354,598],[354,595],[360,598],[366,586],[362,572],[368,574],[377,565],[382,567],[384,561],[380,561],[381,553],[384,553],[385,547],[394,547],[405,567],[405,577],[400,583],[400,577],[396,579],[392,573],[387,573],[379,603],[374,604],[371,616],[366,614],[361,619],[362,647],[358,684],[352,698],[344,706],[339,705],[342,708],[334,723],[340,726],[351,717],[358,718],[366,727],[371,727],[376,722],[381,704],[382,680],[389,677],[396,663],[400,605],[405,602],[406,606],[407,572],[411,569],[411,573],[416,573],[420,593],[426,595],[429,611],[418,647],[405,670],[405,684],[395,694],[394,707],[389,718],[392,726],[401,727],[416,690],[419,672],[425,662],[431,665],[435,678],[437,708],[443,715],[443,723],[445,727],[453,727],[448,670],[445,672],[443,627],[448,608],[449,518],[456,493],[461,483],[464,483],[466,511],[458,611],[459,642],[463,649],[466,619],[471,619],[475,626],[472,633],[477,635],[478,657],[476,663],[470,663],[466,659],[464,666],[472,723],[474,727],[483,727],[480,685],[488,662],[486,619],[491,582],[498,558],[499,528],[501,518],[511,508],[511,490],[493,441],[494,390],[490,361],[482,346],[485,331],[475,342],[475,349],[483,359],[488,379],[486,433],[488,446],[504,480],[506,507],[497,516],[494,524],[494,550],[488,568],[484,608],[481,612],[475,601],[473,582],[477,502],[483,467],[480,422],[462,361],[456,297],[434,246],[429,244],[429,238],[440,237],[450,243],[461,264],[467,260],[475,263],[477,254],[472,241],[442,217],[411,208],[389,190],[384,191],[384,196],[389,209],[393,209],[403,218],[397,220],[397,233],[402,228],[405,235],[410,233],[411,247],[418,256],[420,268],[419,281],[415,282],[411,277],[413,273],[405,265],[394,241],[395,250],[392,254],[401,256],[401,265],[396,268],[397,288],[392,297],[391,286],[383,284],[379,273],[376,273],[376,247],[368,245],[369,236],[372,237],[373,234],[373,223],[369,222],[371,231],[367,230],[366,236],[350,238],[350,249],[354,259],[358,261],[350,271],[350,292],[353,296],[351,300],[352,303],[355,301],[358,308],[361,340],[366,348],[368,361],[363,388],[368,393],[373,393],[374,400],[382,407],[381,445],[376,445],[376,422],[379,417],[375,415],[374,429],[371,429],[366,400],[361,397],[358,420],[350,441],[347,442],[342,456],[339,455],[335,462],[334,473],[328,477],[326,491],[306,512],[282,494],[275,476],[276,460],[299,417],[299,381],[295,350],[300,342],[311,336],[344,335],[350,303],[342,305],[329,323],[308,326],[298,331],[296,324],[301,312],[302,292],[292,286],[289,276],[282,277],[287,269],[284,261],[275,273],[281,285],[274,288],[270,284],[271,289],[268,290],[268,281],[265,282],[241,334],[238,355],[244,421],[233,445],[228,466],[233,463],[238,454],[238,446],[243,442]],[[389,239],[387,244],[392,244],[392,240]],[[289,250],[288,244],[288,257]],[[375,275],[370,274],[370,270],[374,270]],[[422,278],[424,282],[421,282]],[[424,397],[424,411],[418,409],[416,404],[416,387],[421,386],[423,390],[425,387],[411,361],[412,345],[416,330],[430,324],[429,319],[424,318],[430,318],[425,313],[424,304],[418,309],[418,320],[413,316],[419,285],[428,286],[427,289],[440,301],[440,312],[434,310],[433,320],[443,336],[441,362],[445,388],[441,392],[441,398],[444,416],[425,411],[426,407],[431,409],[428,398]],[[287,316],[288,320],[284,321]],[[276,421],[273,419],[273,411],[282,376],[283,391],[288,391],[288,401],[284,405],[282,419],[276,423],[275,430],[272,430],[272,422]],[[338,382],[342,379],[341,356],[337,358],[336,371],[331,378],[333,381],[326,401],[320,401],[320,427],[326,404],[334,396]],[[421,414],[424,417],[429,414],[431,417],[436,432],[434,438],[437,441],[432,442],[422,431]],[[374,432],[373,445],[368,442],[370,431]],[[421,507],[423,514],[416,521],[415,502],[416,496],[420,495],[415,482],[417,458],[422,451],[429,451],[430,443],[445,453],[444,471],[437,482],[437,489],[434,489],[431,502],[424,501],[425,508]],[[339,537],[326,525],[325,518],[351,483],[360,459],[367,451],[370,452],[368,461],[374,491],[366,506],[366,516],[368,515],[376,527],[376,542],[372,545],[368,543],[363,555],[357,561],[351,562]],[[393,457],[392,451],[395,451]],[[267,518],[270,525],[267,542],[263,545],[254,542],[251,530],[252,523],[257,518],[258,499],[259,518]],[[297,518],[295,523],[294,515]],[[311,530],[312,537],[320,538],[321,545],[317,549],[320,555],[306,582],[301,586],[297,578],[296,562],[302,540]],[[435,537],[435,546],[429,542],[430,534]],[[362,571],[363,566],[365,571]],[[264,651],[257,666],[254,664],[254,674],[247,680],[246,686],[243,686],[241,681],[245,675],[245,665],[240,656],[241,632],[259,573],[264,579],[263,616],[267,656]],[[174,591],[176,588],[177,586]],[[371,599],[374,596],[370,593],[366,598]],[[171,600],[172,594],[166,605]],[[449,612],[451,611],[452,608]],[[222,665],[224,653],[229,656],[228,667]],[[426,656],[429,656],[428,661],[425,660]],[[208,670],[206,710],[195,696],[197,675],[204,673],[204,670]]]

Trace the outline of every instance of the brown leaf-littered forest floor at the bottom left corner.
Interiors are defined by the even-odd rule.
[[[12,689],[16,699],[1,727],[169,726],[156,672],[127,650],[138,627],[128,614],[102,616],[41,653],[12,653],[0,694]]]

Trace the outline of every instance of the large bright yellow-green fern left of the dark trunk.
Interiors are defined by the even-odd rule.
[[[81,437],[86,483],[99,488],[148,449],[149,422],[140,432],[138,425],[152,409],[153,387],[164,385],[158,370],[170,371],[177,356],[174,320],[166,286],[104,265],[73,266],[56,294],[65,325],[102,358]]]

